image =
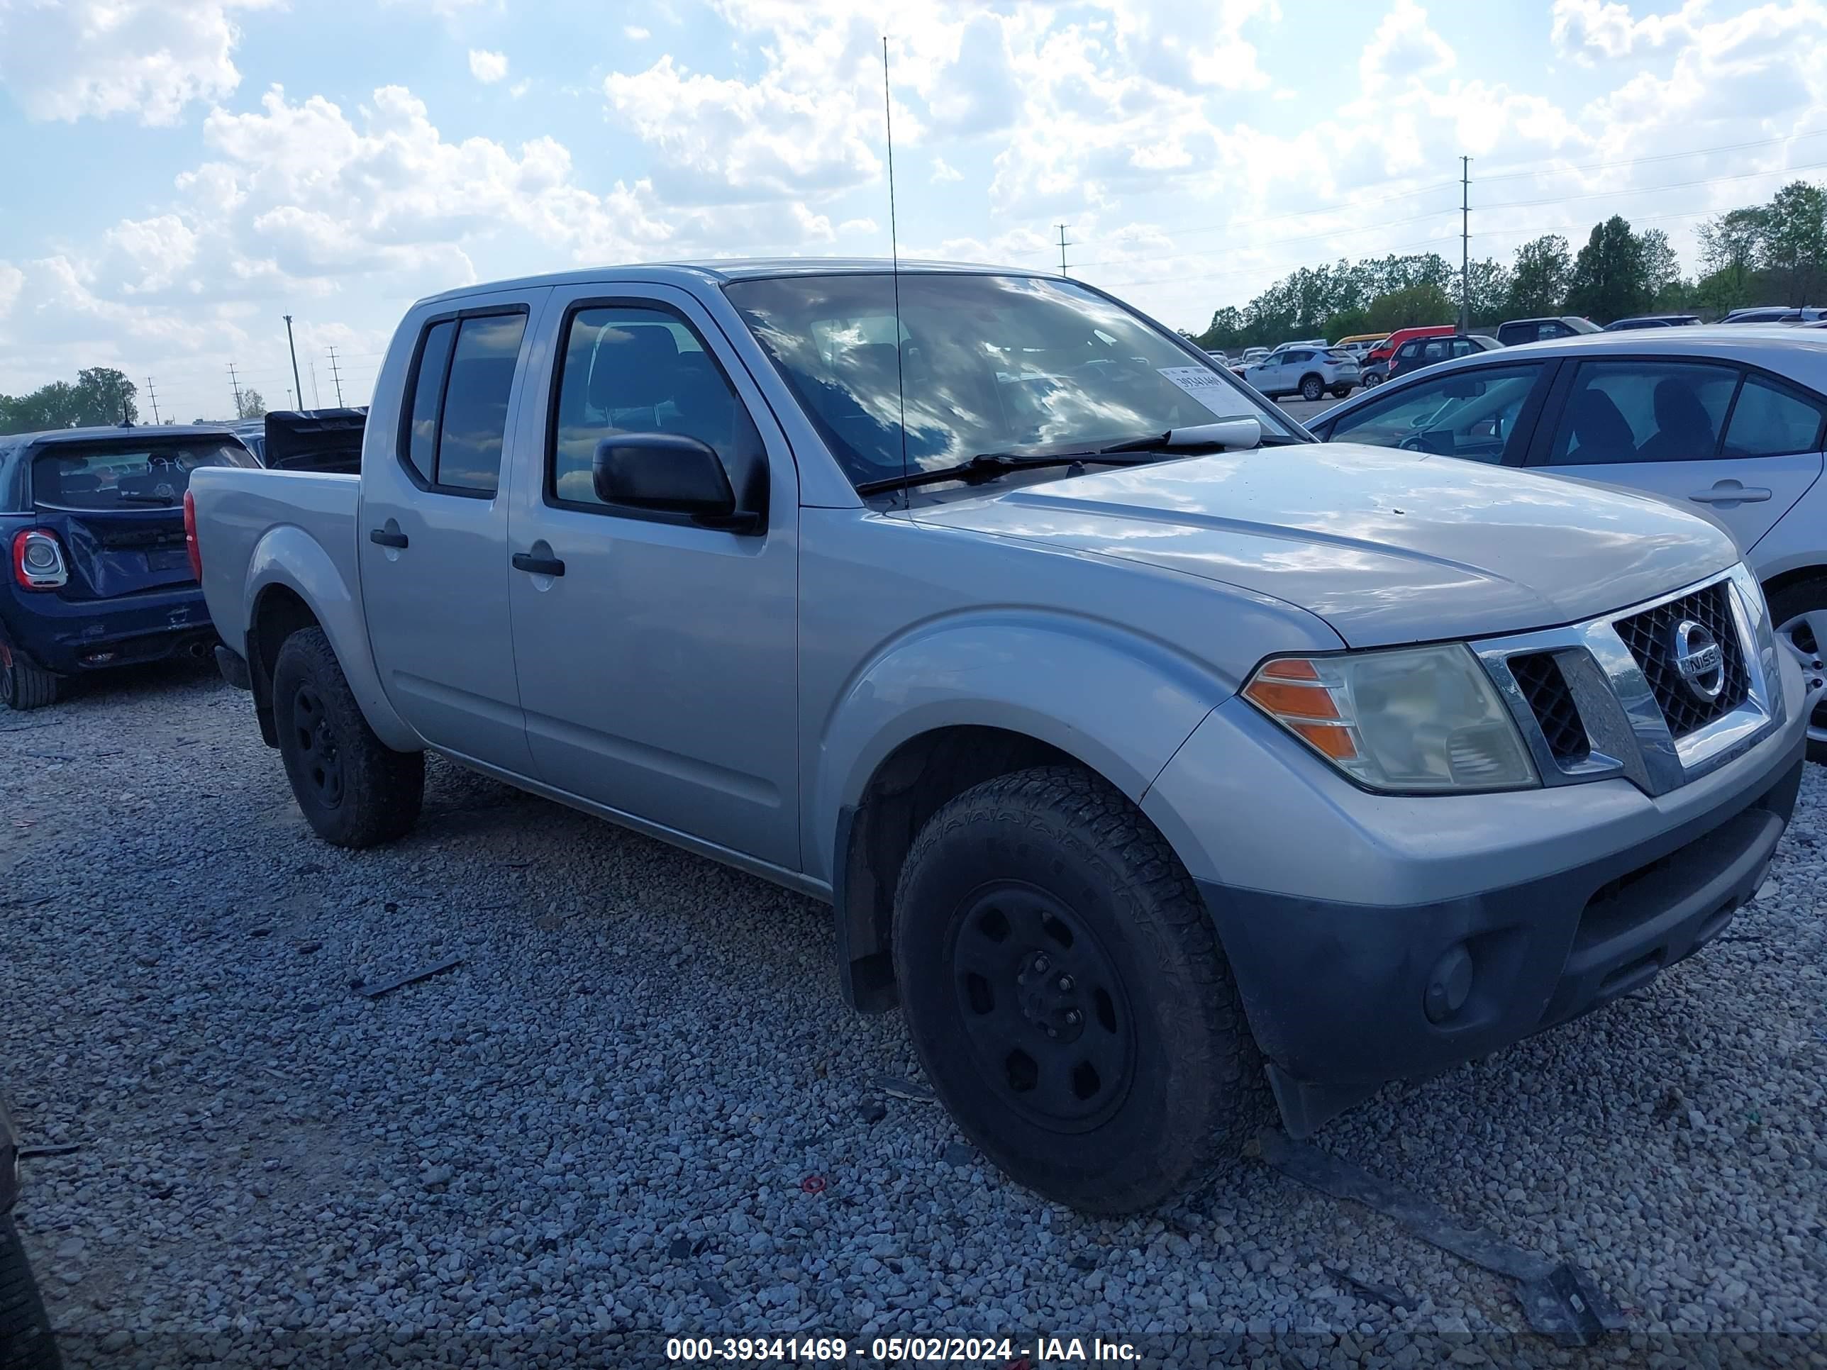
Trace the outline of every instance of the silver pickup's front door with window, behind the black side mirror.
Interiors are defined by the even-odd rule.
[[[508,586],[537,775],[797,869],[791,453],[689,294],[603,290],[554,294],[543,351],[561,376],[537,387],[519,437],[512,550],[526,566],[563,566],[513,572]],[[601,502],[592,457],[618,431],[696,437],[723,458],[733,488],[766,480],[766,532]]]

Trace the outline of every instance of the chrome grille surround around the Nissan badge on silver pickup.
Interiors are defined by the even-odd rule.
[[[1737,652],[1747,681],[1745,698],[1703,727],[1677,738],[1641,663],[1624,645],[1617,625],[1650,610],[1686,599],[1714,585],[1727,585]],[[1785,720],[1776,636],[1763,588],[1743,563],[1721,575],[1708,575],[1666,595],[1626,605],[1611,614],[1471,645],[1496,683],[1544,785],[1573,785],[1624,776],[1648,795],[1666,795],[1725,765]],[[1589,751],[1557,756],[1531,707],[1531,692],[1516,681],[1509,659],[1549,654],[1579,709]],[[1562,749],[1564,751],[1564,749]]]

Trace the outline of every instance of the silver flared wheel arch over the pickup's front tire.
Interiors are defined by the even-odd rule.
[[[1045,742],[1140,800],[1235,690],[1178,648],[1063,614],[970,614],[886,645],[839,692],[808,789],[808,873],[831,880],[839,815],[904,742],[996,727]]]

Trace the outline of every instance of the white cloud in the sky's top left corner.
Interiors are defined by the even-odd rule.
[[[270,0],[0,0],[0,84],[27,119],[175,124],[234,91],[232,9]]]

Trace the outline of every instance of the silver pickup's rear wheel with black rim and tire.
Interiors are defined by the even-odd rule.
[[[272,723],[292,796],[331,846],[406,837],[426,796],[426,754],[375,736],[322,628],[294,632],[272,669]]]

